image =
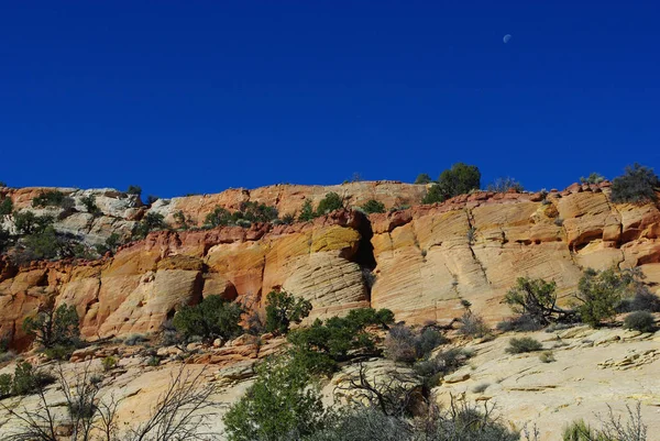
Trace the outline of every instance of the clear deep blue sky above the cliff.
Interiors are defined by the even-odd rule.
[[[0,0],[0,180],[660,172],[658,1]],[[508,43],[503,36],[510,34]]]

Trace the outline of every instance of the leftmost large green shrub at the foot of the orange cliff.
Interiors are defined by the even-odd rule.
[[[76,308],[66,304],[57,309],[50,302],[35,316],[23,321],[23,330],[46,349],[73,346],[79,342],[80,330]]]

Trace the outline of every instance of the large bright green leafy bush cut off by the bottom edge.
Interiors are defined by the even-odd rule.
[[[223,417],[229,441],[288,441],[317,432],[324,420],[319,387],[286,356],[258,365],[254,384]]]

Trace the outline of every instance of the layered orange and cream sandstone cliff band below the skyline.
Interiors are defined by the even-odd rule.
[[[354,190],[346,195],[356,205],[380,198],[387,207],[418,201],[424,188],[394,183],[339,187]],[[228,190],[175,198],[151,210],[170,216],[180,209],[200,219],[216,205],[235,208],[241,198],[251,197],[283,212],[332,189]],[[92,238],[95,232],[130,229],[132,219],[147,210],[119,192],[96,191],[106,214],[80,222],[86,225],[80,228],[72,218],[91,214],[69,211],[57,228]],[[10,196],[21,209],[36,194],[22,189]],[[74,199],[82,194],[69,192]],[[476,312],[496,321],[508,313],[501,299],[519,276],[554,279],[568,296],[585,267],[639,266],[657,290],[659,234],[657,206],[613,205],[607,184],[574,185],[547,197],[476,192],[369,218],[343,210],[293,225],[163,231],[99,261],[22,267],[1,261],[0,334],[11,337],[14,348],[25,348],[22,319],[50,296],[75,305],[82,334],[96,339],[157,331],[180,305],[211,294],[258,308],[265,294],[279,287],[309,298],[312,317],[371,305],[389,308],[409,323],[451,321],[462,313],[460,300],[468,299]]]

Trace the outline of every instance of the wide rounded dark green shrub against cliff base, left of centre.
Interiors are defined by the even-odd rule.
[[[242,333],[239,324],[243,309],[220,296],[208,296],[199,305],[185,306],[174,316],[174,327],[185,338],[230,340]]]

